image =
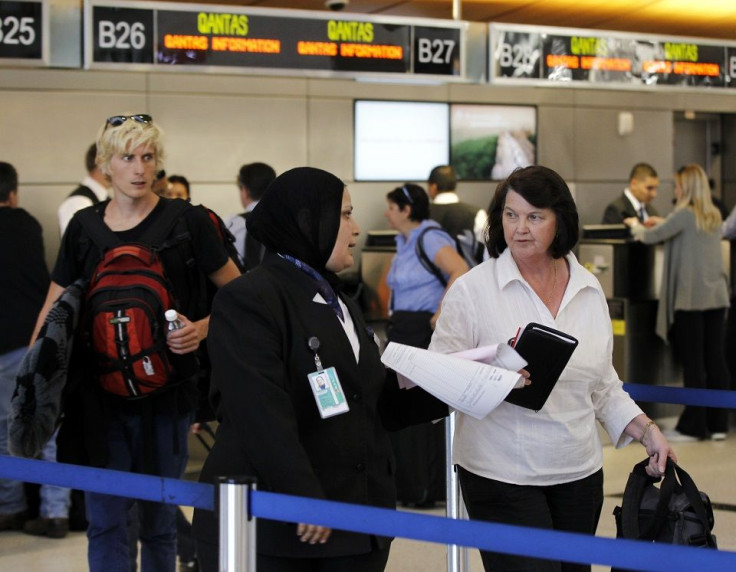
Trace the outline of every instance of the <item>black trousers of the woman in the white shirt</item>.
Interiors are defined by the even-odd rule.
[[[550,486],[523,486],[494,481],[458,466],[468,515],[486,520],[595,534],[603,507],[603,469],[591,476]],[[588,564],[574,564],[512,554],[481,551],[483,568],[499,572],[582,572]]]

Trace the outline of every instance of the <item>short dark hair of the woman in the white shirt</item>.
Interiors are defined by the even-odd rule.
[[[555,171],[541,165],[516,169],[496,187],[488,222],[486,247],[493,258],[498,258],[508,246],[503,235],[503,209],[509,191],[519,193],[529,204],[550,208],[557,218],[557,232],[550,246],[553,258],[570,252],[578,241],[578,211],[570,189]]]

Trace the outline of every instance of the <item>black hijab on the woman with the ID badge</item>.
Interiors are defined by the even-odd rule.
[[[248,217],[248,232],[266,248],[332,278],[325,264],[337,241],[344,191],[345,183],[322,169],[286,171],[268,186]]]

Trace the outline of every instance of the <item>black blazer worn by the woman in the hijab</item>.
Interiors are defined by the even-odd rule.
[[[394,508],[394,459],[386,427],[447,414],[420,389],[399,390],[380,361],[360,310],[343,298],[360,339],[360,359],[334,311],[313,301],[315,282],[267,253],[263,263],[222,288],[207,340],[212,397],[220,426],[202,481],[248,475],[260,490]],[[334,366],[350,411],[319,415],[307,374],[316,370],[310,337],[325,368]],[[217,541],[213,513],[195,511],[195,534]],[[372,549],[369,535],[335,530],[326,544],[298,541],[294,523],[260,520],[258,551],[330,557]],[[379,545],[390,539],[377,538]]]

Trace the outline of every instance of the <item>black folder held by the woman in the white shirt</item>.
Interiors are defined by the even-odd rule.
[[[578,341],[564,332],[530,322],[516,340],[514,349],[529,365],[531,385],[512,389],[506,401],[539,411],[570,361]]]

